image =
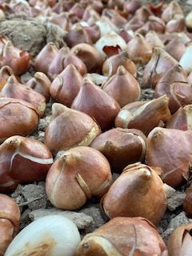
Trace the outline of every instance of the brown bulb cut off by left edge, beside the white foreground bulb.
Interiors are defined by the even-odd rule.
[[[20,210],[14,200],[6,194],[0,194],[0,255],[5,254],[6,248],[18,233]]]

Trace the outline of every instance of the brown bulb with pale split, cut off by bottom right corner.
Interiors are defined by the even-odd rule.
[[[169,256],[190,256],[192,251],[192,223],[178,226],[167,242]]]

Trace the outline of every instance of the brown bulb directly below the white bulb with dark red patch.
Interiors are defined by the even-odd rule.
[[[130,74],[137,73],[137,67],[130,60],[128,52],[123,51],[106,59],[102,65],[102,74],[111,76],[117,72],[118,66],[124,66]]]

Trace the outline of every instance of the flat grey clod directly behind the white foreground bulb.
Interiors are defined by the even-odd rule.
[[[58,210],[56,208],[33,210],[30,212],[29,217],[32,221],[35,221],[36,219],[47,215],[57,214],[61,214],[62,216],[69,218],[80,230],[86,229],[93,223],[93,218],[86,214],[70,210]]]

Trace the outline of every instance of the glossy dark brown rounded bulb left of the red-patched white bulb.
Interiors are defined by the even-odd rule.
[[[94,46],[90,46],[87,43],[79,43],[71,48],[71,53],[85,63],[88,72],[93,73],[100,70],[102,66],[102,57]]]

